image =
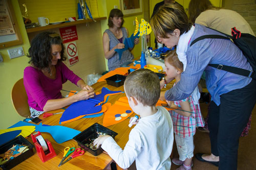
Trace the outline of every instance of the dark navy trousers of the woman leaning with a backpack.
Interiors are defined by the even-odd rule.
[[[219,169],[237,169],[239,137],[256,103],[256,81],[221,95],[221,104],[210,102],[208,128],[211,153],[220,156]]]

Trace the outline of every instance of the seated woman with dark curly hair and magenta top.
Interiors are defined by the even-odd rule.
[[[62,40],[56,33],[42,32],[31,41],[30,65],[25,68],[23,77],[31,117],[94,97],[93,87],[86,85],[62,62],[66,60],[64,50]],[[60,90],[68,80],[81,91],[62,98]]]

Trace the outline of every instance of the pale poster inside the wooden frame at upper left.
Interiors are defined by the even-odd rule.
[[[0,36],[15,34],[6,0],[0,0]]]

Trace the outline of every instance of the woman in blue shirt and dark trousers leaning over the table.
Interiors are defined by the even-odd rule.
[[[239,137],[256,103],[256,81],[208,64],[246,70],[252,70],[251,65],[229,39],[206,38],[191,45],[203,35],[225,35],[197,23],[193,26],[184,9],[176,4],[162,6],[151,18],[151,27],[158,42],[168,48],[177,45],[178,58],[186,65],[180,81],[161,93],[161,99],[187,98],[205,70],[206,87],[211,95],[208,119],[211,153],[198,153],[196,158],[219,166],[219,169],[237,169]],[[166,83],[172,80],[166,79]]]

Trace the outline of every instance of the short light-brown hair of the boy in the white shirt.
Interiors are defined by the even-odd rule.
[[[126,95],[135,97],[143,106],[154,106],[160,98],[160,81],[150,69],[137,69],[124,81]]]

